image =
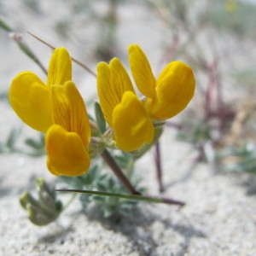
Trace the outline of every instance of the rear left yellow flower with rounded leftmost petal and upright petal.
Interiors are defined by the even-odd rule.
[[[53,124],[49,88],[52,84],[64,84],[72,79],[71,65],[67,49],[55,49],[49,61],[46,84],[35,73],[29,71],[21,72],[13,79],[9,90],[9,102],[26,125],[46,132]]]

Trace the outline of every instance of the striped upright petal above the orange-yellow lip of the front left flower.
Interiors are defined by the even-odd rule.
[[[52,85],[51,99],[54,123],[67,131],[78,133],[87,147],[90,143],[90,122],[76,85],[72,81],[64,85]]]

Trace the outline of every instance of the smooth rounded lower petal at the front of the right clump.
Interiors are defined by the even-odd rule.
[[[122,102],[113,110],[113,131],[117,146],[127,152],[153,142],[152,122],[143,103],[131,91],[125,92]]]

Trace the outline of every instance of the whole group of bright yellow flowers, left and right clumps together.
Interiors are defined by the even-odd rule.
[[[157,79],[143,50],[132,44],[129,62],[140,99],[125,67],[117,58],[97,65],[97,91],[109,129],[99,135],[104,147],[131,152],[152,144],[154,124],[186,108],[195,92],[192,69],[170,62]],[[27,125],[44,132],[47,166],[55,175],[79,176],[95,155],[91,125],[79,90],[72,81],[72,61],[67,49],[55,49],[49,61],[46,84],[35,73],[22,72],[12,81],[9,101]],[[109,132],[110,131],[110,132]],[[109,136],[111,134],[111,136]]]

